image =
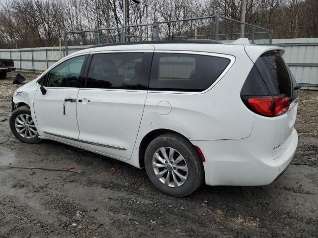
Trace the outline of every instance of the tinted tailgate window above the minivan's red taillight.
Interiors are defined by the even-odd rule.
[[[260,56],[255,66],[264,79],[271,95],[285,94],[291,97],[292,84],[287,65],[277,52]]]

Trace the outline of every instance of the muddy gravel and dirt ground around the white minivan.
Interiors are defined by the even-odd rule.
[[[0,122],[0,166],[73,166],[83,175],[0,169],[0,238],[318,237],[318,91],[300,93],[298,149],[278,180],[202,185],[173,198],[145,170],[54,141],[19,142],[8,125],[13,75],[0,80],[0,118],[7,118]]]

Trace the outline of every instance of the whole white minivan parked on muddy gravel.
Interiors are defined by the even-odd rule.
[[[75,52],[12,99],[22,142],[59,141],[146,168],[162,192],[265,185],[294,157],[298,90],[276,46],[174,40]]]

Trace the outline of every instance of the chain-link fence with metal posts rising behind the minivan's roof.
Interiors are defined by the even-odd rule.
[[[250,44],[270,45],[272,36],[271,30],[224,17],[217,11],[215,16],[161,22],[155,19],[152,24],[64,32],[64,45],[68,55],[68,46],[180,39],[214,39],[231,43],[239,38],[248,38]]]

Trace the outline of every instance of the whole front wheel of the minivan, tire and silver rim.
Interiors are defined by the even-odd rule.
[[[38,137],[37,129],[31,118],[31,111],[29,107],[22,106],[15,109],[11,113],[9,123],[13,135],[21,142],[32,144],[39,143],[41,141],[41,139]],[[18,132],[18,130],[20,131],[20,133]]]

